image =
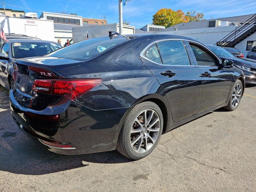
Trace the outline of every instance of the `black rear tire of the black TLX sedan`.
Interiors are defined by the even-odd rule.
[[[150,111],[152,111],[152,115],[150,113],[148,113]],[[139,133],[135,133],[135,134],[137,134],[137,136],[143,135],[142,139],[139,140],[141,147],[140,146],[138,147],[139,144],[137,144],[137,148],[139,148],[138,150],[142,151],[139,153],[139,152],[135,152],[134,148],[136,148],[136,147],[132,146],[131,140],[132,140],[132,136],[134,133],[131,133],[131,130],[132,129],[134,130],[134,126],[135,126],[135,128],[136,128],[136,126],[140,127],[139,124],[136,125],[136,121],[140,118],[140,114],[142,114],[143,112],[145,112],[146,116],[148,115],[146,117],[146,120],[148,120],[148,119],[150,119],[150,120],[149,120],[149,122],[146,121],[146,122],[148,122],[148,123],[146,123],[146,124],[148,124],[148,126],[144,126],[145,124],[144,124],[144,118],[143,118],[143,122],[141,122],[143,131],[139,132]],[[150,118],[150,115],[151,115],[151,118]],[[154,128],[152,127],[154,131],[151,132],[152,128],[149,128],[149,126],[152,125],[153,122],[157,122],[157,123],[155,123]],[[159,122],[159,124],[158,124],[158,122]],[[120,154],[122,154],[132,160],[139,160],[139,159],[142,159],[142,158],[148,156],[154,150],[154,148],[156,148],[156,146],[160,140],[160,137],[162,135],[162,130],[163,130],[163,122],[164,121],[163,121],[162,111],[160,110],[160,108],[157,104],[155,104],[153,102],[142,102],[142,103],[136,105],[130,111],[130,113],[127,115],[127,117],[124,121],[124,124],[120,130],[116,150]],[[145,132],[145,129],[146,129],[146,132]],[[155,132],[155,130],[159,130],[159,132],[158,131]],[[148,137],[149,134],[151,134],[150,138]],[[136,138],[134,140],[136,140]],[[152,141],[152,138],[155,138],[154,142]],[[146,146],[145,146],[145,140],[148,140],[146,142]],[[142,145],[142,141],[143,141],[143,145]],[[149,145],[150,145],[150,148],[149,148]],[[144,149],[145,149],[145,152],[143,152]]]

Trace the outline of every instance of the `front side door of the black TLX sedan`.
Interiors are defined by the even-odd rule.
[[[193,60],[196,63],[196,67],[200,70],[203,80],[202,98],[200,102],[200,110],[198,112],[202,113],[227,102],[230,93],[232,74],[230,69],[220,67],[220,61],[217,57],[215,66],[210,66],[210,61],[200,61],[200,56],[198,55],[202,54],[202,51],[205,51],[209,56],[214,57],[214,55],[199,44],[193,45],[202,48],[202,50],[197,50],[196,52],[190,46],[192,52],[194,51]]]

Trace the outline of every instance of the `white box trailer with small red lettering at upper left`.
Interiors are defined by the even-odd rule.
[[[0,16],[0,24],[5,34],[15,33],[54,41],[54,26],[50,20]]]

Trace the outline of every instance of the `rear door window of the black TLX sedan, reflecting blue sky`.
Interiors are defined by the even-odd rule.
[[[188,53],[182,41],[163,41],[157,45],[164,65],[190,65]]]

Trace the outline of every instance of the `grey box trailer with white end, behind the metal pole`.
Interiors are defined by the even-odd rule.
[[[83,27],[72,28],[73,41],[78,42],[85,40],[88,32],[88,38],[106,37],[109,31],[119,31],[119,24],[106,24],[106,25],[86,25]],[[135,27],[130,25],[123,25],[123,34],[135,34]]]

